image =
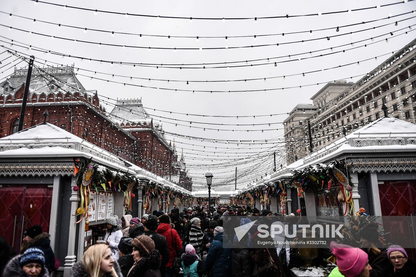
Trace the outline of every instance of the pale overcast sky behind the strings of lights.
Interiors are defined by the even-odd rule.
[[[48,1],[47,1],[48,2]],[[318,12],[334,12],[342,10],[353,10],[363,7],[371,7],[376,5],[384,5],[393,2],[394,0],[377,0],[377,1],[52,1],[63,5],[71,5],[76,7],[84,7],[89,9],[107,10],[113,12],[130,13],[130,14],[145,14],[145,15],[161,15],[161,16],[175,16],[175,17],[268,17],[281,15],[303,15]],[[188,19],[156,19],[151,17],[136,17],[130,15],[115,15],[109,13],[98,12],[94,15],[91,11],[75,10],[62,7],[47,5],[39,3],[34,5],[30,0],[0,0],[0,11],[7,14],[0,14],[0,24],[20,28],[32,32],[38,32],[48,37],[29,34],[18,30],[7,30],[7,27],[0,26],[0,35],[5,37],[1,40],[9,42],[10,39],[21,42],[32,47],[40,47],[43,49],[64,53],[66,55],[88,57],[98,60],[110,60],[116,62],[130,62],[130,63],[153,63],[153,64],[207,64],[207,63],[223,63],[244,61],[236,63],[235,65],[246,65],[246,60],[253,59],[267,59],[270,58],[268,64],[253,66],[253,64],[267,63],[248,62],[247,67],[235,67],[229,69],[178,69],[178,68],[163,68],[159,67],[156,71],[154,67],[136,67],[133,69],[131,65],[114,65],[100,64],[99,62],[81,62],[79,59],[61,58],[54,55],[44,55],[34,50],[26,51],[25,54],[33,54],[36,60],[44,62],[47,59],[50,62],[59,64],[75,64],[75,68],[79,68],[77,73],[85,74],[102,79],[109,79],[110,81],[121,82],[126,84],[136,84],[143,86],[156,87],[141,88],[128,86],[123,84],[107,83],[102,80],[91,80],[89,77],[78,76],[78,79],[87,90],[97,90],[100,98],[110,97],[118,98],[141,98],[143,105],[147,108],[149,114],[154,118],[154,122],[161,120],[163,129],[170,133],[182,134],[185,136],[211,138],[218,140],[217,142],[207,142],[201,140],[189,140],[188,138],[167,135],[168,140],[173,141],[175,138],[177,151],[179,155],[181,148],[185,156],[186,166],[189,173],[193,177],[195,184],[206,183],[203,173],[207,169],[214,172],[213,183],[230,184],[234,181],[224,181],[224,178],[234,176],[235,165],[239,171],[238,187],[245,187],[249,182],[260,179],[267,172],[271,173],[273,169],[272,151],[276,151],[277,164],[285,165],[285,156],[283,146],[274,141],[274,144],[269,143],[254,143],[247,144],[225,144],[225,140],[271,140],[281,139],[283,137],[282,121],[287,117],[296,104],[312,103],[310,97],[321,89],[326,82],[330,80],[346,79],[348,82],[357,81],[361,77],[349,79],[351,76],[366,74],[377,65],[381,64],[389,55],[385,55],[392,51],[397,51],[404,47],[407,43],[415,38],[415,33],[410,32],[409,35],[400,35],[392,37],[386,35],[377,40],[389,39],[389,43],[378,42],[368,47],[360,47],[354,50],[348,50],[345,54],[337,53],[324,57],[317,57],[305,60],[295,60],[297,57],[311,57],[310,54],[303,54],[292,58],[291,62],[277,63],[289,60],[287,57],[272,59],[272,57],[280,57],[286,55],[295,55],[304,52],[313,52],[329,47],[337,47],[360,40],[366,40],[370,37],[376,37],[388,32],[393,32],[398,35],[404,31],[398,31],[401,28],[416,24],[415,18],[399,22],[397,26],[394,24],[379,27],[377,30],[368,30],[364,32],[357,32],[366,28],[372,28],[379,25],[394,23],[398,20],[403,20],[409,17],[416,16],[414,14],[402,15],[394,17],[394,19],[379,20],[373,23],[361,24],[352,27],[340,28],[339,32],[335,29],[316,31],[310,36],[309,32],[301,34],[287,34],[290,32],[309,31],[325,28],[333,28],[337,26],[349,25],[369,20],[377,20],[389,15],[398,15],[405,12],[416,10],[416,1],[393,5],[389,7],[381,7],[379,9],[369,9],[364,11],[356,11],[351,13],[340,13],[334,15],[320,15],[309,17],[290,17],[277,19],[259,19],[255,23],[254,20],[196,20],[192,23]],[[142,39],[138,35],[121,35],[116,34],[111,37],[109,33],[95,32],[88,30],[84,33],[81,29],[74,29],[69,27],[57,28],[56,25],[50,25],[42,22],[33,24],[33,20],[27,20],[12,16],[9,18],[8,14],[20,15],[36,20],[44,20],[48,22],[59,23],[62,25],[72,25],[87,29],[100,29],[114,32],[128,32],[134,34],[142,34]],[[415,26],[416,27],[416,26]],[[408,29],[409,31],[409,29]],[[350,32],[357,32],[354,35],[349,35]],[[254,40],[254,35],[268,35],[285,33],[283,38],[278,36],[257,37]],[[276,47],[277,43],[310,40],[319,37],[327,37],[333,35],[340,35],[348,33],[348,35],[332,37],[330,40],[316,40],[313,42],[294,43],[280,45]],[[163,36],[190,36],[191,38],[171,38],[170,41],[166,37],[149,37],[144,35],[163,35]],[[225,41],[225,36],[245,36],[244,38],[228,38]],[[50,36],[65,37],[70,40],[59,40],[55,38],[50,39]],[[221,37],[221,38],[200,38],[196,41],[196,37]],[[249,47],[241,49],[203,49],[196,50],[177,50],[173,52],[172,49],[138,49],[122,47],[105,46],[97,47],[97,45],[77,42],[73,40],[85,40],[98,43],[109,43],[115,45],[131,45],[141,47],[166,47],[166,48],[206,48],[206,47],[241,47],[251,45],[267,45],[265,47]],[[370,40],[365,42],[355,43],[354,47],[371,43]],[[17,43],[18,44],[18,43]],[[2,42],[1,45],[8,44]],[[22,51],[23,48],[13,46],[13,49]],[[334,48],[335,50],[347,50],[352,46],[344,46]],[[3,51],[3,50],[2,50]],[[0,51],[0,52],[2,52]],[[317,54],[331,53],[330,50],[316,52]],[[383,56],[384,55],[384,56]],[[336,67],[338,65],[348,64],[350,62],[358,62],[371,57],[379,57],[378,60],[371,59],[370,61],[360,62],[360,65],[354,64],[337,69],[325,70],[317,73],[305,74],[313,70],[326,69]],[[0,55],[1,59],[6,58],[6,54]],[[48,64],[52,64],[48,62]],[[23,64],[20,64],[23,66]],[[218,66],[218,65],[217,65]],[[200,67],[200,66],[198,66]],[[208,67],[208,66],[207,66]],[[4,69],[4,68],[3,68]],[[3,70],[2,69],[2,70]],[[104,76],[97,73],[87,73],[82,69],[88,69],[96,72],[104,72],[108,74],[123,75],[127,77],[141,77],[146,79],[168,79],[181,80],[184,82],[169,82],[166,81],[151,81],[148,80],[130,80],[129,78]],[[12,70],[12,69],[10,69]],[[4,72],[0,75],[1,80],[11,74],[11,71]],[[263,78],[277,77],[283,75],[300,74],[293,77],[267,79],[264,82]],[[218,81],[218,80],[235,80],[235,79],[253,79],[262,78],[257,81],[247,82],[192,82],[192,81]],[[186,81],[189,84],[186,84]],[[308,84],[319,85],[306,86]],[[171,88],[171,89],[188,89],[188,90],[264,90],[282,87],[299,87],[302,89],[285,89],[274,90],[267,92],[174,92],[157,88]],[[305,86],[305,87],[304,87]],[[110,100],[114,105],[115,101]],[[106,106],[107,111],[111,111],[112,106]],[[225,117],[201,117],[201,116],[186,116],[174,113],[165,113],[162,111],[154,111],[152,109],[159,109],[165,111],[172,111],[185,114],[200,114],[200,115],[216,115],[216,116],[240,116],[239,119],[225,118]],[[276,116],[259,117],[259,115],[282,114]],[[161,119],[159,116],[169,119]],[[241,116],[250,116],[241,118]],[[256,116],[254,118],[254,116]],[[180,122],[176,120],[185,120],[188,122]],[[192,121],[192,124],[189,123]],[[195,122],[203,122],[208,124],[197,124]],[[260,126],[218,126],[210,125],[213,123],[219,124],[271,124]],[[279,123],[279,124],[273,124]],[[178,126],[175,126],[178,124]],[[179,126],[183,124],[185,126]],[[191,126],[191,128],[189,128]],[[206,128],[196,129],[194,127]],[[213,131],[213,129],[229,129],[235,131]],[[261,131],[266,129],[274,129],[272,131]],[[276,130],[278,129],[278,130]],[[245,130],[245,131],[237,131]],[[250,131],[247,130],[260,130]],[[188,143],[188,144],[183,144]],[[191,144],[191,145],[189,145]],[[193,145],[192,145],[193,144]],[[204,146],[206,148],[204,148]],[[213,148],[214,147],[214,148]],[[215,149],[217,147],[217,149]],[[223,147],[223,148],[220,148]],[[231,148],[231,149],[225,149]],[[251,148],[251,149],[250,149]],[[205,152],[203,152],[205,151]],[[256,156],[256,153],[266,151]],[[268,152],[267,152],[268,151]],[[215,153],[214,153],[215,152]],[[251,152],[251,153],[248,153]],[[229,153],[229,154],[227,154]],[[238,153],[238,154],[234,154]],[[265,156],[267,154],[267,156]],[[209,155],[209,156],[206,156]],[[230,156],[230,157],[227,157]],[[238,156],[238,157],[237,157]],[[248,158],[237,162],[231,162],[230,158]],[[253,161],[247,163],[247,161]],[[218,165],[220,164],[220,165]],[[245,171],[244,171],[245,170]]]

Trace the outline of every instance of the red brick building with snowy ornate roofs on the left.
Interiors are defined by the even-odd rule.
[[[176,151],[141,99],[118,100],[109,113],[97,91],[86,90],[76,75],[73,67],[33,69],[23,129],[42,122],[48,110],[47,122],[159,176],[189,183]],[[26,76],[27,69],[15,69],[0,83],[0,137],[17,132]]]

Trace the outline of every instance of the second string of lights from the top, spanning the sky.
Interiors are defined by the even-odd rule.
[[[380,20],[386,20],[386,19],[391,19],[394,17],[399,17],[402,15],[407,15],[409,13],[413,13],[414,11],[409,11],[409,12],[404,12],[398,15],[391,15],[388,17],[383,17],[383,18],[379,18],[376,20],[369,20],[369,21],[362,21],[362,22],[358,22],[358,23],[353,23],[353,24],[348,24],[348,25],[337,25],[337,27],[328,27],[328,28],[323,28],[323,29],[316,29],[316,30],[304,30],[304,31],[297,31],[297,32],[286,32],[286,33],[278,33],[278,34],[264,34],[264,35],[240,35],[240,36],[222,36],[222,37],[218,37],[218,36],[171,36],[171,35],[154,35],[154,34],[140,34],[140,33],[130,33],[130,32],[117,32],[117,31],[109,31],[109,30],[100,30],[100,29],[94,29],[94,28],[88,28],[88,27],[79,27],[79,26],[73,26],[73,25],[65,25],[65,24],[60,24],[60,23],[56,23],[56,22],[50,22],[50,21],[45,21],[45,20],[39,20],[39,19],[35,19],[35,18],[30,18],[30,17],[25,17],[25,16],[21,16],[21,15],[16,15],[16,14],[12,14],[11,12],[5,12],[5,11],[1,11],[0,13],[3,15],[8,15],[9,18],[12,17],[18,17],[18,18],[22,18],[22,19],[27,19],[30,20],[34,23],[36,22],[42,22],[42,23],[46,23],[46,24],[50,24],[50,25],[54,25],[57,26],[58,29],[61,29],[61,27],[68,27],[68,28],[73,28],[73,29],[78,29],[78,30],[87,30],[87,31],[94,31],[94,32],[102,32],[102,33],[107,33],[110,34],[111,37],[114,37],[115,35],[133,35],[134,37],[139,37],[139,39],[142,39],[143,37],[163,37],[166,38],[168,40],[171,40],[172,38],[192,38],[195,39],[196,42],[199,42],[199,39],[202,38],[219,38],[219,39],[224,39],[224,40],[228,40],[230,38],[242,38],[242,37],[250,37],[253,39],[256,39],[258,37],[270,37],[270,36],[281,36],[283,34],[285,35],[293,35],[293,34],[302,34],[302,33],[309,33],[310,35],[313,35],[313,32],[319,32],[319,31],[326,31],[326,30],[335,30],[336,32],[339,32],[339,29],[341,28],[346,28],[346,27],[352,27],[352,26],[357,26],[357,25],[362,25],[362,24],[366,24],[366,23],[372,23],[372,22],[377,22]],[[398,21],[399,22],[399,21]]]

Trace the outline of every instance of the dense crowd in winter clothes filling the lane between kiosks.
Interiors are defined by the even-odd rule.
[[[253,222],[252,217],[263,215],[272,224],[302,223],[294,214],[274,221],[270,210],[256,208],[203,206],[189,207],[170,213],[155,210],[152,215],[133,218],[126,214],[106,220],[103,243],[91,245],[82,260],[75,263],[71,276],[75,277],[275,277],[290,276],[288,268],[290,247],[265,246],[254,248],[260,240],[258,232],[249,230],[241,239],[228,237],[224,224],[235,215],[240,225]],[[329,277],[410,277],[416,265],[399,245],[386,251],[377,248],[372,239],[376,227],[369,226],[361,235],[362,248],[331,242],[337,267]],[[275,238],[280,242],[290,238]],[[232,247],[233,245],[233,247]],[[50,247],[49,234],[40,225],[24,232],[20,255],[16,255],[4,237],[0,237],[0,272],[4,277],[47,277],[59,268]]]

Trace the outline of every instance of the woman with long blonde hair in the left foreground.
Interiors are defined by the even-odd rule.
[[[111,257],[108,245],[97,244],[85,251],[82,261],[71,268],[72,277],[120,277],[119,264]]]

